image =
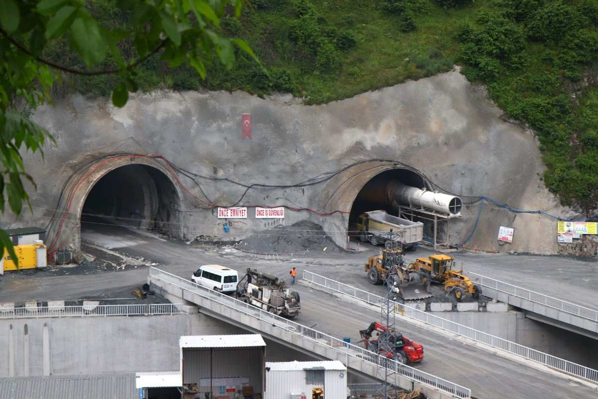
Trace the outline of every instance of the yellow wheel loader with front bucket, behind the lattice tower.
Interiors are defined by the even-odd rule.
[[[387,249],[382,250],[382,255],[368,258],[364,266],[368,281],[374,285],[387,284],[389,289],[404,300],[431,297],[431,280],[425,276],[422,278],[415,270],[405,267],[401,249],[389,249],[391,246],[388,244],[390,242],[387,242]]]

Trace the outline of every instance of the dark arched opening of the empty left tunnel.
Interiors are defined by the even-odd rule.
[[[91,188],[81,212],[81,229],[112,224],[179,236],[180,204],[175,185],[160,170],[120,166]]]

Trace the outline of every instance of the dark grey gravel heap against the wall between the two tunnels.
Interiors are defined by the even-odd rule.
[[[313,252],[344,252],[318,224],[300,221],[292,226],[277,226],[264,230],[236,245],[237,249],[258,254],[308,254]]]

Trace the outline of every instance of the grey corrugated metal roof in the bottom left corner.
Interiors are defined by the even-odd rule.
[[[135,373],[0,378],[0,399],[137,398]]]

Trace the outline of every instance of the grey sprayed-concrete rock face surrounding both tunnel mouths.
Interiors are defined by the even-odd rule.
[[[243,113],[252,115],[252,139],[242,138]],[[359,190],[379,173],[398,168],[389,162],[398,161],[463,196],[462,217],[451,222],[450,233],[450,242],[460,244],[472,232],[480,206],[468,205],[466,196],[490,196],[514,208],[565,212],[539,179],[544,169],[535,138],[505,121],[502,114],[483,89],[469,84],[458,71],[318,106],[240,92],[154,92],[134,95],[124,108],[116,109],[106,99],[71,96],[36,111],[36,121],[53,133],[56,145],[45,148],[45,163],[38,156],[26,157],[28,171],[38,184],[37,191],[30,191],[34,215],[25,212],[16,223],[12,219],[3,224],[44,224],[53,217],[65,185],[48,242],[59,230],[56,218],[65,214],[65,197],[74,193],[55,246],[77,249],[80,214],[94,184],[118,167],[139,164],[145,165],[145,175],[161,177],[139,189],[149,194],[146,200],[136,199],[141,205],[130,209],[122,205],[127,202],[122,189],[126,184],[119,183],[120,199],[114,204],[120,201],[121,205],[111,206],[112,214],[121,218],[148,219],[154,216],[144,209],[159,209],[160,228],[173,236],[225,241],[309,220],[346,246],[348,212]],[[110,154],[123,155],[116,160],[100,158]],[[196,176],[196,183],[179,173],[178,181],[163,160],[125,154],[160,154],[201,177]],[[350,167],[315,185],[245,187],[294,185],[361,160],[376,161]],[[160,196],[163,191],[169,193]],[[206,203],[249,206],[248,217],[218,219],[217,211]],[[255,205],[320,212],[286,209],[283,219],[257,219]],[[331,211],[347,213],[321,215]],[[511,244],[499,245],[499,226],[514,227]],[[467,246],[556,253],[556,221],[486,205]]]

